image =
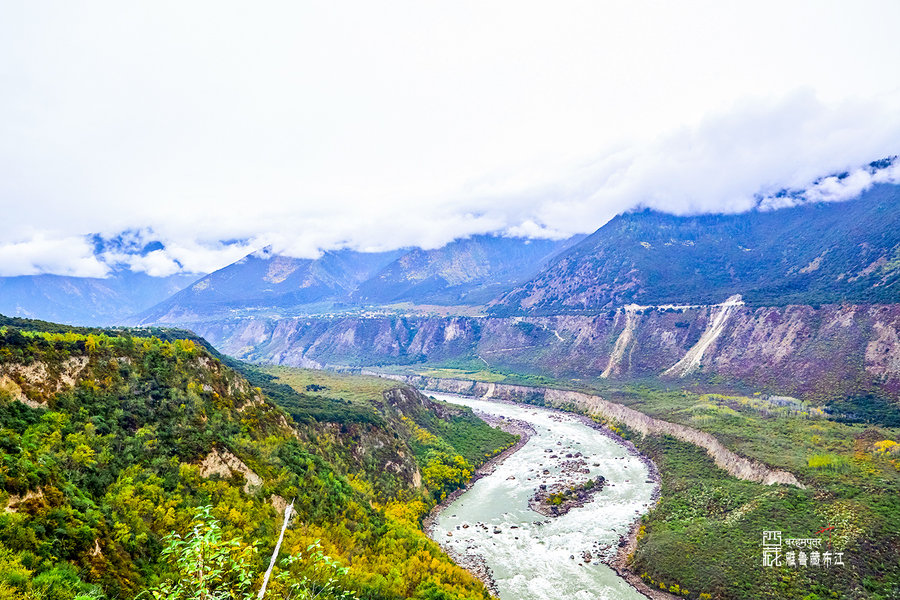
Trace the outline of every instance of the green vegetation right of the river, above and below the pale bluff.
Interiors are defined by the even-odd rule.
[[[900,591],[900,428],[840,421],[790,398],[699,393],[664,382],[565,381],[494,371],[490,380],[597,393],[662,420],[713,434],[729,449],[794,473],[806,486],[765,486],[729,476],[697,446],[643,437],[607,423],[657,464],[661,498],[641,522],[632,569],[646,583],[691,599],[807,597],[887,600]],[[476,379],[476,377],[466,377]],[[546,405],[541,395],[524,400]],[[577,411],[578,407],[554,405]],[[598,421],[605,421],[592,415]],[[560,497],[559,502],[564,500]],[[845,566],[762,566],[762,532],[817,537]]]

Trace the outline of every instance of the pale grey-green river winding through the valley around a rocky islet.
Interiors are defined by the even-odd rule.
[[[654,484],[639,457],[565,413],[434,396],[525,421],[535,430],[527,444],[441,511],[431,531],[438,543],[451,555],[480,555],[501,600],[646,600],[599,560],[615,553],[619,537],[650,506]],[[590,473],[564,474],[562,463],[573,464],[566,455],[578,460],[577,453],[579,468]],[[528,506],[541,484],[568,485],[598,475],[607,481],[602,491],[562,516],[545,517]],[[592,560],[585,560],[586,552]]]

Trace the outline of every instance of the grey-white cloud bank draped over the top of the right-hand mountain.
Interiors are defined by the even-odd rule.
[[[744,101],[692,127],[547,174],[539,184],[479,197],[504,213],[512,231],[593,231],[617,213],[650,207],[675,214],[733,213],[798,201],[845,200],[873,182],[898,182],[897,166],[859,165],[897,153],[900,114],[892,103],[848,101],[829,106],[805,90],[778,100]],[[846,178],[828,173],[850,172]],[[801,199],[774,198],[807,190]],[[760,198],[764,198],[760,202]],[[490,210],[490,209],[488,209]],[[517,222],[517,216],[522,221]]]

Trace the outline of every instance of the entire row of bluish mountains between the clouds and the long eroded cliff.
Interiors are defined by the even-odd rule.
[[[365,310],[597,314],[627,304],[751,306],[900,299],[900,186],[740,214],[623,213],[565,240],[476,235],[435,249],[271,249],[206,276],[0,278],[0,312],[76,324],[181,324]]]

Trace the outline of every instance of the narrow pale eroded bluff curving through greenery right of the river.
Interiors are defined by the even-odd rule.
[[[780,483],[804,487],[793,473],[772,469],[758,461],[736,454],[709,433],[679,423],[655,419],[622,404],[604,400],[600,396],[552,388],[458,379],[417,376],[398,376],[397,379],[423,390],[513,402],[534,403],[535,401],[540,401],[541,404],[553,408],[574,407],[581,413],[621,423],[642,435],[671,435],[683,442],[694,444],[706,450],[719,468],[738,479],[756,481],[765,485]]]

